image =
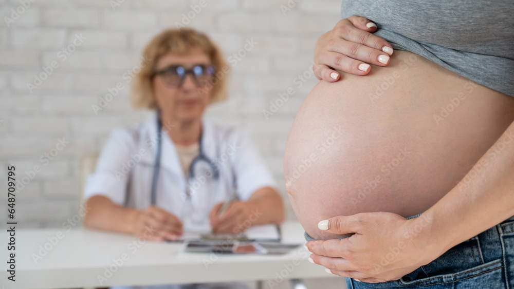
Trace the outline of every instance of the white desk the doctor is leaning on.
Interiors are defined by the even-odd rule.
[[[305,243],[299,223],[286,222],[281,230],[284,243]],[[137,240],[134,236],[76,228],[70,232],[64,229],[17,230],[16,281],[12,282],[7,280],[8,235],[5,229],[2,231],[0,285],[5,289],[335,277],[327,274],[323,267],[309,263],[310,254],[303,246],[289,254],[274,256],[193,254],[182,252],[183,244],[145,242],[139,248],[127,247]],[[39,254],[40,246],[49,243],[47,238],[56,236],[59,231],[62,239],[35,263],[32,254]],[[128,259],[121,266],[115,265],[113,259],[123,254]],[[106,267],[111,265],[116,272],[100,284],[98,276],[104,276]]]

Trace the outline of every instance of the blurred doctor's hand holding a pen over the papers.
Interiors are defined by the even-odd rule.
[[[221,216],[218,216],[222,205],[223,203],[216,204],[209,215],[212,233],[239,234],[251,226],[250,208],[246,202],[234,201]]]

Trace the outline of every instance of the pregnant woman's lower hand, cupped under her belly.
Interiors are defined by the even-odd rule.
[[[328,233],[354,235],[344,239],[309,241],[312,260],[327,273],[368,283],[398,280],[438,257],[428,232],[431,220],[421,215],[405,219],[387,212],[359,213],[321,221]]]

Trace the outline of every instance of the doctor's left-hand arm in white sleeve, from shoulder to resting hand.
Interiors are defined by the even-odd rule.
[[[131,160],[130,154],[136,149],[133,134],[127,129],[111,133],[84,188],[84,226],[154,241],[177,238],[182,234],[182,223],[177,217],[154,206],[136,210],[122,205],[128,177],[117,176],[116,172],[123,171],[123,164]]]

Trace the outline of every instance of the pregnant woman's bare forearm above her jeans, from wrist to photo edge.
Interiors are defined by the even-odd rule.
[[[421,235],[431,252],[440,256],[513,215],[514,123],[464,179],[416,222],[423,227]]]

